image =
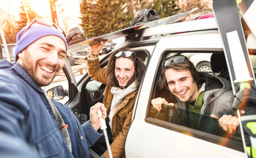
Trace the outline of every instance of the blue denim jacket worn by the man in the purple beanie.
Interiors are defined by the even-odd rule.
[[[53,101],[72,143],[72,153],[62,137],[44,91],[19,63],[0,60],[0,131],[24,140],[41,157],[89,158],[88,148],[100,138],[90,120],[82,126],[72,110]]]

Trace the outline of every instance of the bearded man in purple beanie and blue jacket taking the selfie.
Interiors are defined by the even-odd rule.
[[[81,126],[68,106],[41,89],[63,68],[67,42],[61,32],[54,23],[34,19],[17,35],[15,63],[0,60],[0,133],[22,140],[43,158],[89,158],[88,148],[102,135],[97,110],[105,118],[104,105],[92,106]]]

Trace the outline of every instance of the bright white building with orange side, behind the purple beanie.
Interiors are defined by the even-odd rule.
[[[82,23],[80,0],[49,0],[52,21],[66,33]]]

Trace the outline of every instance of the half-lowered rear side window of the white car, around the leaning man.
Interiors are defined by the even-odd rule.
[[[220,52],[166,52],[161,59],[162,63],[167,58],[174,55],[184,55],[195,65],[197,71],[205,72],[210,75],[214,75],[217,77],[226,78],[226,82],[228,82],[228,68],[226,67],[225,56]],[[223,61],[223,63],[220,63]],[[233,148],[236,150],[243,150],[242,139],[240,130],[236,130],[234,133],[229,134],[220,126],[217,118],[211,117],[211,113],[207,113],[209,109],[212,109],[210,106],[206,106],[205,110],[199,110],[197,112],[193,110],[189,110],[188,102],[184,103],[180,100],[178,101],[177,96],[173,95],[167,87],[161,87],[161,82],[163,76],[161,76],[161,64],[159,65],[159,72],[156,77],[154,90],[152,90],[151,98],[165,98],[168,103],[174,103],[174,106],[170,106],[167,104],[163,104],[161,106],[161,110],[158,111],[150,102],[148,106],[148,117],[157,119],[155,125],[158,124],[158,120],[160,122],[165,121],[165,125],[160,125],[164,128],[168,128],[171,130],[176,130],[180,133],[187,133],[187,135],[194,136],[195,135],[204,135],[205,138],[203,140],[208,140],[208,138],[215,139],[214,141],[210,140],[212,143],[221,144],[222,139],[225,139],[224,146]],[[169,84],[169,83],[168,83]],[[199,95],[198,95],[199,96]],[[203,98],[202,98],[203,99]],[[207,102],[209,100],[203,100],[202,102]],[[179,106],[177,106],[179,105]],[[232,105],[229,105],[230,109]],[[205,112],[205,113],[204,113]],[[235,110],[233,113],[236,113]],[[147,116],[146,116],[147,118]],[[159,123],[160,123],[159,122]],[[177,126],[178,125],[178,126]],[[174,128],[175,127],[175,128]],[[238,127],[239,128],[239,127]],[[182,130],[181,130],[182,129]],[[196,136],[196,137],[197,137]],[[200,138],[200,136],[198,136]],[[235,145],[234,145],[235,144]],[[223,144],[221,144],[223,145]]]

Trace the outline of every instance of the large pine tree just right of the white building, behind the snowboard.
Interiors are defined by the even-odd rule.
[[[94,6],[90,0],[82,0],[82,28],[88,38],[130,27],[134,15],[125,0],[98,0]]]

